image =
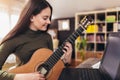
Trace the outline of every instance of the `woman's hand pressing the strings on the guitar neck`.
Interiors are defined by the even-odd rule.
[[[62,56],[62,60],[64,61],[64,63],[71,63],[72,51],[73,49],[71,43],[66,42],[63,49],[64,55]]]

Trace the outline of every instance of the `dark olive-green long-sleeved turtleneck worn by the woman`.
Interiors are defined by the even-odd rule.
[[[43,31],[28,30],[0,46],[0,69],[2,69],[7,57],[14,53],[25,64],[29,61],[34,51],[40,48],[53,50],[51,36]],[[0,80],[13,80],[15,74],[0,71]]]

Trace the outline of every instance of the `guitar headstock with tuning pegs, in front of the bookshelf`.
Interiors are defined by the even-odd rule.
[[[81,21],[80,21],[80,26],[84,29],[87,29],[88,25],[93,23],[93,19],[90,16],[85,16]]]

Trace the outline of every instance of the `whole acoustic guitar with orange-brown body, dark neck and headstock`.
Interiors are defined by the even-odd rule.
[[[87,29],[87,26],[93,22],[92,18],[85,16],[80,24],[79,28],[70,35],[61,46],[54,52],[49,49],[42,48],[34,52],[31,59],[24,65],[11,69],[10,73],[31,73],[40,72],[45,75],[47,80],[58,80],[58,77],[64,68],[64,64],[61,61],[61,56],[64,54],[63,47],[65,42],[74,43],[75,39],[82,35],[82,32]]]

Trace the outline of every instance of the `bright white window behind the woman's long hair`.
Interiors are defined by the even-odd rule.
[[[8,11],[0,10],[0,39],[2,39],[16,24],[17,14],[9,14]]]

